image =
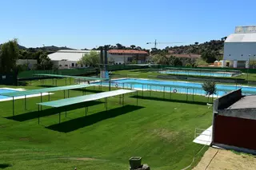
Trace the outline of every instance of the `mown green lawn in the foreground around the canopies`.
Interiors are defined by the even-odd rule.
[[[38,84],[33,81],[32,86],[19,88],[42,88],[35,86]],[[90,88],[86,93],[99,90]],[[71,97],[80,95],[82,91],[70,91]],[[50,95],[51,101],[62,98],[63,92]],[[0,102],[0,168],[120,170],[129,168],[130,156],[142,156],[142,163],[156,170],[185,168],[202,148],[192,142],[194,129],[208,128],[212,120],[206,97],[197,96],[196,102],[186,102],[185,98],[175,94],[172,100],[167,95],[163,99],[162,93],[150,97],[147,92],[139,97],[137,106],[131,94],[126,95],[122,107],[118,97],[111,97],[107,112],[103,100],[98,101],[89,108],[87,117],[85,108],[71,110],[67,117],[62,113],[60,125],[58,114],[46,108],[38,125],[35,103],[40,97],[27,100],[28,110],[24,100],[16,100],[14,117],[12,101]]]

